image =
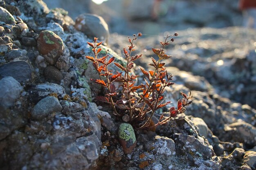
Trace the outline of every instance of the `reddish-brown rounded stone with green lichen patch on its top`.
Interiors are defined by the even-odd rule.
[[[64,44],[61,38],[52,31],[42,31],[37,40],[38,51],[47,55],[45,59],[49,64],[54,65],[59,56],[63,53]]]

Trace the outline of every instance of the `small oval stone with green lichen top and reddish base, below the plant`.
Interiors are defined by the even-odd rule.
[[[125,154],[130,154],[135,148],[137,141],[135,132],[130,124],[120,124],[118,138]]]

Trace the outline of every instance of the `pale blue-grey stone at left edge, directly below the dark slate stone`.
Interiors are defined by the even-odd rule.
[[[13,106],[20,96],[22,87],[13,77],[4,77],[0,80],[0,106],[8,108]]]

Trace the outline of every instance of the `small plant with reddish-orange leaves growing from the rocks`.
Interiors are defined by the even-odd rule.
[[[108,59],[108,51],[106,55],[98,58],[98,54],[101,51],[99,46],[102,42],[97,42],[98,38],[94,38],[94,42],[87,42],[91,47],[94,53],[94,57],[86,56],[90,60],[97,70],[100,79],[91,79],[91,81],[103,86],[106,88],[105,96],[97,96],[96,99],[101,102],[106,102],[112,106],[113,114],[116,116],[129,115],[130,123],[139,129],[143,128],[154,128],[155,126],[165,124],[171,117],[175,117],[177,114],[183,113],[185,111],[185,106],[191,104],[191,92],[188,95],[181,93],[183,99],[178,100],[177,108],[170,108],[170,116],[164,117],[161,115],[157,124],[154,124],[151,120],[155,111],[159,108],[170,104],[171,102],[163,103],[164,100],[164,91],[168,86],[173,85],[171,82],[172,75],[169,75],[164,68],[165,63],[162,60],[166,60],[171,57],[164,52],[164,48],[174,41],[172,36],[167,35],[164,42],[160,42],[161,48],[153,48],[152,51],[158,56],[158,61],[151,57],[152,63],[149,65],[152,66],[152,70],[146,71],[143,68],[141,72],[145,76],[145,84],[140,84],[135,86],[135,80],[139,75],[133,75],[132,68],[134,66],[133,61],[139,59],[141,55],[132,56],[132,52],[135,51],[133,42],[141,37],[142,34],[138,33],[133,35],[132,39],[128,37],[130,45],[128,50],[125,48],[124,58],[126,60],[126,66],[114,62],[115,57]],[[110,64],[115,64],[120,69],[120,72],[112,73],[112,70],[108,69]],[[117,88],[114,82],[119,82],[119,87]],[[119,90],[121,88],[121,90]],[[118,96],[118,91],[121,92],[121,97]],[[120,96],[120,95],[119,95]]]

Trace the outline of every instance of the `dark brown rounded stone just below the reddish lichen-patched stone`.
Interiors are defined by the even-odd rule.
[[[54,66],[47,66],[44,70],[45,79],[48,82],[59,83],[64,78],[62,73]]]

